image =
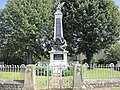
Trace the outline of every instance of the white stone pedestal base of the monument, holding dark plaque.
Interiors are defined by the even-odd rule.
[[[50,66],[52,66],[54,73],[62,73],[62,68],[67,68],[67,53],[68,51],[49,51],[50,53]]]

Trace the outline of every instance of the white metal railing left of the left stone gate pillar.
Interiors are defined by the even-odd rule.
[[[25,65],[0,65],[0,80],[24,80]]]

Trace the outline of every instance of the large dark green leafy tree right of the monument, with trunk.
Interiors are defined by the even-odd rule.
[[[71,54],[82,52],[90,64],[94,53],[110,47],[118,40],[118,7],[113,0],[61,0],[63,1],[63,28],[67,49]]]

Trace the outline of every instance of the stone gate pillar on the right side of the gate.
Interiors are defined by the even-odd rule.
[[[81,64],[74,65],[74,76],[73,76],[73,90],[83,90],[82,81],[82,66]]]

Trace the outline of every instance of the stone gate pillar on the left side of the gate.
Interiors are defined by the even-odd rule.
[[[27,65],[25,69],[25,81],[23,90],[36,90],[35,77],[36,77],[35,65],[32,64]]]

